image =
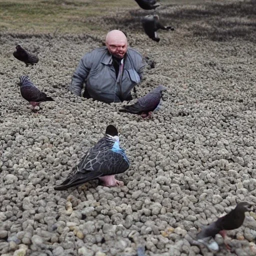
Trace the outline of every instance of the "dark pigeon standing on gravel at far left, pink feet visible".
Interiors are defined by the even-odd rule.
[[[29,80],[28,75],[22,75],[19,79],[21,96],[32,105],[33,109],[43,101],[54,101],[51,97],[47,97],[44,92],[37,89]]]

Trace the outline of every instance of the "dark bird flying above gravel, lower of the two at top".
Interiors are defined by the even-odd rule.
[[[156,31],[158,29],[163,30],[175,30],[172,26],[164,26],[159,21],[159,16],[154,15],[146,15],[142,18],[142,26],[144,28],[145,33],[151,38],[152,40],[159,42],[160,38],[157,36]]]

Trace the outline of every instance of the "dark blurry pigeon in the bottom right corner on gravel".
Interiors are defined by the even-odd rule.
[[[250,207],[251,204],[248,202],[239,202],[229,213],[202,228],[196,236],[197,241],[204,243],[205,239],[214,238],[219,233],[224,239],[226,248],[230,250],[230,246],[225,241],[226,230],[232,230],[241,226],[245,218],[244,212],[250,211]]]

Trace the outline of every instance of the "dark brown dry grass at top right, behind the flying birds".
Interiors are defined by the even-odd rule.
[[[197,4],[167,4],[157,10],[165,25],[173,25],[187,35],[207,37],[211,40],[229,40],[240,37],[256,41],[256,0],[208,1]],[[142,16],[148,12],[130,10],[129,15],[105,16],[110,28],[137,31]]]

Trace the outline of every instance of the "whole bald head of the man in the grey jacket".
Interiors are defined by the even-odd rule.
[[[109,52],[117,57],[123,58],[127,51],[127,38],[120,30],[111,30],[106,35],[106,47]]]

